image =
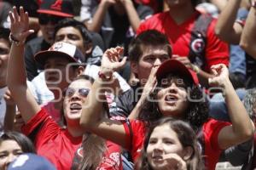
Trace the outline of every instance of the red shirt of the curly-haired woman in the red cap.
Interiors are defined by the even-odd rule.
[[[131,121],[131,132],[127,123],[123,123],[126,134],[126,148],[131,152],[133,160],[137,160],[140,156],[141,150],[143,149],[143,141],[146,134],[145,122],[142,121]],[[203,138],[204,138],[204,151],[202,155],[206,156],[206,166],[208,170],[215,170],[218,157],[221,153],[221,149],[218,147],[218,133],[219,131],[230,125],[229,122],[218,122],[213,119],[209,119],[205,122],[202,127]],[[132,139],[131,139],[132,138]],[[129,142],[131,141],[131,142]]]

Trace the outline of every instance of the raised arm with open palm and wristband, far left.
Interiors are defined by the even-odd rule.
[[[26,86],[24,64],[24,43],[26,37],[33,31],[28,29],[28,14],[22,7],[20,7],[20,15],[14,7],[13,12],[9,13],[9,18],[11,20],[11,37],[15,42],[12,43],[9,54],[7,84],[21,116],[25,122],[28,122],[40,110]]]

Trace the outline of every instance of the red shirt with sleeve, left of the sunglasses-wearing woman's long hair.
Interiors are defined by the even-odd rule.
[[[42,109],[22,128],[26,136],[32,137],[39,156],[46,157],[58,170],[70,169],[73,156],[82,143],[82,136],[73,137]]]

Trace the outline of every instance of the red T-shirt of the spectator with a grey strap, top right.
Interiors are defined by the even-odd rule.
[[[188,20],[177,25],[176,21],[172,19],[169,12],[154,14],[152,17],[145,20],[138,28],[137,34],[154,29],[160,31],[168,37],[172,44],[172,54],[179,56],[189,56],[189,46],[191,40],[191,31],[195,26],[195,20],[200,13],[198,11],[191,15]],[[214,27],[217,20],[212,19],[212,22],[207,29],[207,44],[205,48],[205,63],[204,71],[210,72],[212,65],[224,64],[229,65],[229,46],[222,42],[215,35]]]

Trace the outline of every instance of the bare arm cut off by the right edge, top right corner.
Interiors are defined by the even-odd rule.
[[[254,1],[256,2],[256,1]],[[255,5],[254,5],[255,6]],[[250,8],[246,24],[241,34],[240,46],[256,59],[256,7]]]

